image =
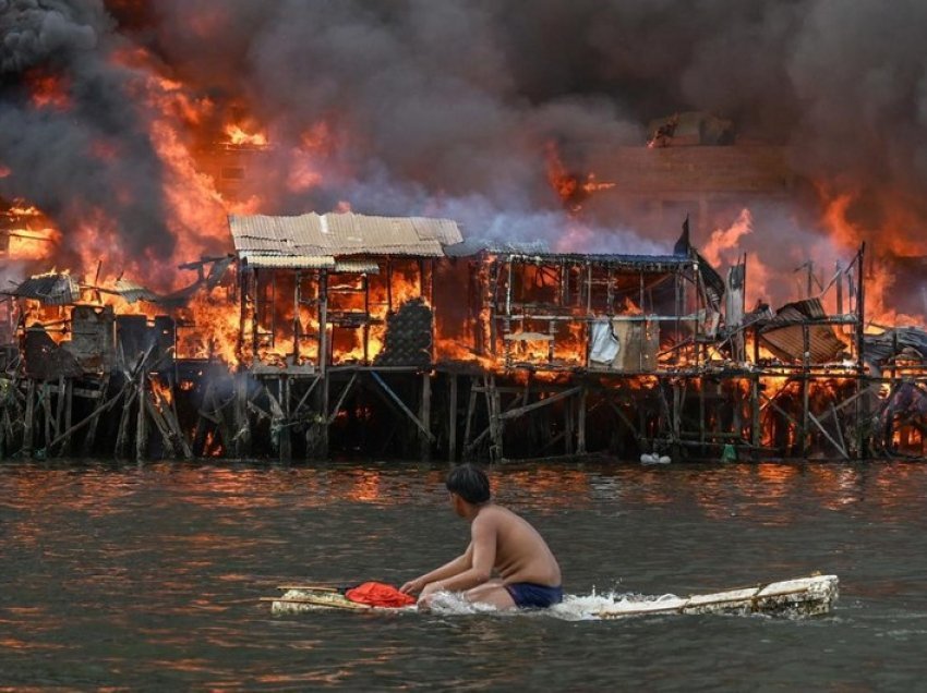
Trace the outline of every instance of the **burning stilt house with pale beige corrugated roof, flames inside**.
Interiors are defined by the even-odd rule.
[[[434,264],[462,240],[454,221],[232,216],[230,228],[252,369],[431,365]]]

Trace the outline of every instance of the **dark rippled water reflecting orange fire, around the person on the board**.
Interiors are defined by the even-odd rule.
[[[493,473],[574,595],[819,570],[832,616],[274,617],[297,581],[401,583],[460,551],[442,465],[0,464],[0,688],[924,690],[919,464]]]

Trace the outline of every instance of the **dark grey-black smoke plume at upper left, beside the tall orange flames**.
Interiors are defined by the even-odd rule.
[[[109,60],[122,42],[99,0],[0,0],[0,195],[23,197],[69,231],[103,210],[129,255],[173,246],[159,196],[161,163],[130,98],[136,76]],[[38,71],[38,72],[31,72]],[[28,80],[67,85],[67,110],[36,108]],[[106,151],[107,154],[103,154]]]

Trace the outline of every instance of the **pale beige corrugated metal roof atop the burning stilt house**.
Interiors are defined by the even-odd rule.
[[[353,212],[299,217],[229,217],[236,250],[263,255],[414,255],[443,257],[460,243],[455,221],[423,217],[370,217]]]

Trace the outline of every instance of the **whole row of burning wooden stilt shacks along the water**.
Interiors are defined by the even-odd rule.
[[[722,278],[687,226],[672,255],[351,212],[229,226],[234,254],[170,295],[55,272],[8,292],[2,454],[923,454],[927,337],[865,333],[862,248],[829,315],[747,311],[746,265]]]

